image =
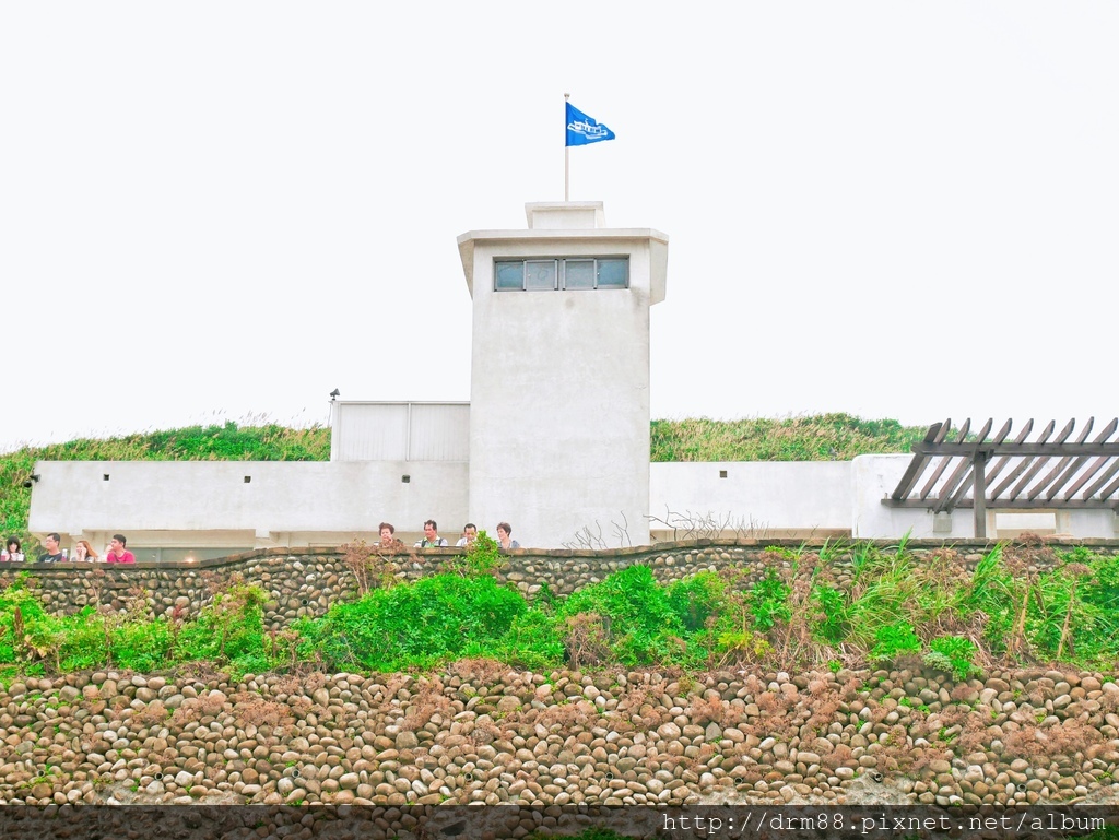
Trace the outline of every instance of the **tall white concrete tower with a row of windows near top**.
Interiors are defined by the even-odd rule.
[[[527,230],[459,237],[473,299],[470,517],[523,545],[584,528],[649,541],[649,306],[668,237],[600,201],[525,206]]]

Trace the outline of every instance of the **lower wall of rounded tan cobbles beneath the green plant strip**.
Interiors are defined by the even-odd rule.
[[[0,805],[1113,804],[1117,709],[1111,677],[1044,668],[102,670],[0,686]]]

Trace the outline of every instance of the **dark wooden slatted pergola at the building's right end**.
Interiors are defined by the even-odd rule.
[[[1075,421],[1054,436],[1050,421],[1029,441],[1031,419],[1014,437],[1012,421],[994,435],[994,422],[971,435],[971,419],[951,433],[951,419],[934,423],[913,445],[913,460],[894,491],[882,500],[892,508],[934,513],[972,508],[975,536],[987,536],[988,510],[1113,510],[1119,512],[1119,417],[1092,440],[1094,418],[1073,435]],[[970,437],[970,440],[969,440]],[[920,490],[918,487],[920,485]]]

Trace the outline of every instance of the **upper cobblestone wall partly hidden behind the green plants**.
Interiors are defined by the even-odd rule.
[[[995,545],[914,540],[906,548],[918,558],[933,553],[943,556],[949,551],[952,561],[974,566]],[[1119,554],[1119,540],[1080,540],[1074,545],[1087,546],[1097,554]],[[768,550],[771,547],[782,549],[783,554],[782,550]],[[888,548],[891,544],[883,542],[882,547]],[[1069,550],[1073,544],[1054,542],[1051,547]],[[749,581],[763,574],[770,564],[790,563],[790,553],[801,550],[818,553],[821,546],[806,546],[799,540],[698,539],[601,551],[520,549],[508,555],[508,563],[498,577],[514,584],[527,597],[544,585],[553,593],[567,595],[636,564],[650,566],[662,582],[727,566],[747,569]],[[460,561],[463,554],[463,549],[435,548],[406,551],[387,559],[394,563],[397,577],[415,579]],[[845,577],[844,563],[840,560],[838,568],[840,585]],[[849,565],[849,557],[846,563]],[[1040,566],[1046,563],[1051,560],[1044,556],[1037,558]],[[200,563],[129,566],[12,564],[8,568],[0,566],[0,588],[9,585],[19,573],[27,574],[38,587],[47,610],[55,614],[75,612],[87,604],[105,604],[123,611],[129,597],[139,592],[156,615],[170,615],[178,607],[182,617],[196,615],[209,603],[214,592],[220,592],[239,578],[269,594],[264,622],[266,627],[275,630],[304,615],[322,615],[333,602],[351,598],[357,593],[355,575],[337,549],[292,553],[286,548],[272,548]]]

